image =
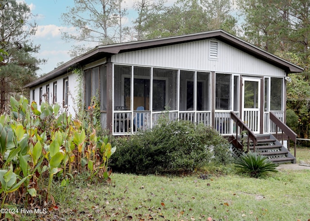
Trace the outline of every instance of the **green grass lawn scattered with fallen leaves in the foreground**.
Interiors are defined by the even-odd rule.
[[[300,159],[309,149],[298,149]],[[299,156],[301,154],[301,156]],[[310,159],[310,158],[308,158]],[[307,159],[306,159],[307,160]],[[231,172],[193,176],[112,174],[111,183],[82,180],[53,189],[55,207],[21,220],[308,221],[310,170],[280,171],[255,179]]]

